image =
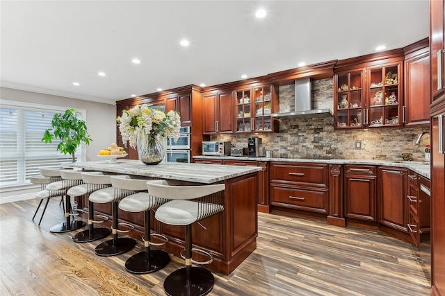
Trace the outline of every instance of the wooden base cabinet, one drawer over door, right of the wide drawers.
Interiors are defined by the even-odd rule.
[[[344,166],[345,216],[366,221],[377,220],[377,169],[375,166]]]

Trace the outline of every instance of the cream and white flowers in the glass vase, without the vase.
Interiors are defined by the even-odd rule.
[[[122,116],[118,116],[120,134],[122,141],[129,142],[132,148],[136,148],[138,137],[147,136],[154,139],[156,135],[172,138],[177,141],[179,128],[181,128],[181,117],[177,111],[165,112],[150,108],[148,105],[136,105],[130,110],[124,110]]]

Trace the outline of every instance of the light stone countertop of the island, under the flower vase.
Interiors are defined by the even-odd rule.
[[[259,166],[223,166],[176,162],[161,162],[161,164],[155,166],[147,166],[139,160],[117,159],[116,161],[115,163],[110,163],[108,160],[74,162],[72,164],[64,164],[64,166],[83,168],[91,171],[106,171],[204,184],[220,182],[232,179],[233,177],[261,171],[261,167]]]

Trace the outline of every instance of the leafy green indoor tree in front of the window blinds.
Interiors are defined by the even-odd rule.
[[[42,141],[52,143],[53,139],[60,139],[57,150],[60,150],[64,155],[67,155],[67,153],[72,155],[72,162],[76,162],[74,155],[76,148],[82,142],[89,145],[92,141],[90,134],[87,132],[85,121],[76,118],[76,110],[74,109],[67,109],[65,114],[54,114],[51,127],[44,131]]]

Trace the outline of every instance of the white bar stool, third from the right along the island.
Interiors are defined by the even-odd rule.
[[[113,238],[108,241],[104,241],[95,248],[95,253],[99,256],[115,256],[123,254],[133,249],[136,245],[136,241],[133,238],[120,238],[119,233],[131,232],[134,229],[133,225],[129,223],[119,223],[118,217],[118,205],[122,198],[128,195],[134,194],[137,191],[133,190],[134,182],[147,182],[147,180],[133,179],[128,175],[111,176],[111,187],[97,190],[90,195],[92,202],[106,203],[113,202],[113,225],[111,226],[111,234]],[[129,227],[129,230],[120,230],[119,225]]]

